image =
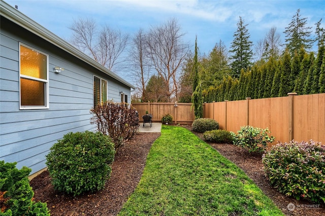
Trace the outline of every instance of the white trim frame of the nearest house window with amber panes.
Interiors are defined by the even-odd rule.
[[[26,76],[26,75],[21,75],[20,74],[20,46],[24,46],[28,49],[31,49],[31,50],[34,50],[36,52],[39,52],[43,55],[46,56],[46,80],[43,80],[43,79],[39,79],[39,78],[35,78],[35,77],[29,77],[29,76]],[[45,83],[45,105],[44,106],[38,106],[38,105],[34,105],[34,106],[25,106],[25,105],[21,105],[21,89],[20,89],[20,78],[26,78],[26,79],[29,79],[29,80],[35,80],[35,81],[40,81],[40,82],[43,82]],[[41,109],[49,109],[50,107],[50,101],[49,101],[49,55],[38,50],[38,49],[35,49],[33,47],[30,47],[26,44],[23,44],[21,42],[19,42],[19,109],[20,110],[41,110]]]

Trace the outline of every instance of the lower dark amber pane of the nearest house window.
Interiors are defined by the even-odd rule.
[[[43,82],[20,78],[21,105],[45,106],[45,86]]]

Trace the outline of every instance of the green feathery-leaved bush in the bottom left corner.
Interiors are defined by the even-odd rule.
[[[50,215],[46,203],[32,201],[34,192],[27,178],[31,169],[18,170],[16,164],[0,161],[0,215]]]

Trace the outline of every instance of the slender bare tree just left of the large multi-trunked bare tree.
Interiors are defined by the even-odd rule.
[[[137,86],[136,93],[140,96],[141,101],[146,98],[146,85],[151,77],[151,65],[146,53],[146,37],[147,34],[140,28],[132,40],[130,54],[134,80]]]

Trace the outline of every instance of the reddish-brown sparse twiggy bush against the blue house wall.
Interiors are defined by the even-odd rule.
[[[132,105],[106,101],[95,106],[90,112],[94,114],[90,123],[113,139],[115,149],[132,138],[139,129],[139,114]]]

